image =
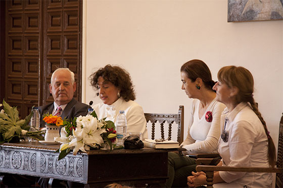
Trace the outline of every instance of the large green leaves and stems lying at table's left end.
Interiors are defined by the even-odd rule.
[[[19,142],[21,137],[30,137],[35,140],[44,140],[42,134],[45,131],[29,132],[28,122],[32,116],[32,110],[25,119],[19,119],[17,107],[11,107],[3,100],[4,109],[0,112],[0,144],[4,142]]]

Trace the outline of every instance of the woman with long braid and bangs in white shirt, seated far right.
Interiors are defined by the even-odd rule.
[[[256,166],[275,165],[275,147],[266,123],[253,98],[254,80],[243,67],[223,67],[218,72],[216,100],[227,108],[221,115],[221,139],[218,165]],[[204,172],[193,172],[187,177],[190,187],[206,184]],[[270,187],[271,173],[214,172],[214,187]]]

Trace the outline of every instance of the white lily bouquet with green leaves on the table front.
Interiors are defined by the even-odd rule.
[[[61,136],[55,137],[54,140],[61,143],[58,160],[64,158],[71,150],[73,155],[77,152],[86,152],[90,148],[101,148],[109,146],[112,150],[117,143],[117,135],[113,121],[98,120],[95,111],[90,115],[75,117],[71,121],[64,120],[61,129]]]

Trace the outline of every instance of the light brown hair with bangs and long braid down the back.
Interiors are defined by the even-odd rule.
[[[239,93],[235,97],[236,104],[239,104],[241,102],[250,103],[253,111],[261,121],[265,134],[268,138],[269,164],[274,167],[276,163],[275,146],[267,130],[266,122],[264,121],[261,113],[259,112],[257,103],[255,102],[253,97],[254,79],[251,72],[243,67],[227,66],[219,70],[217,77],[220,82],[225,83],[228,87],[235,86],[239,89]]]

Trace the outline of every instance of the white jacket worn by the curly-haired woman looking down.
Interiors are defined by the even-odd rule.
[[[147,120],[143,107],[132,100],[125,101],[122,98],[119,98],[111,106],[115,106],[116,112],[114,118],[109,118],[109,120],[113,120],[115,125],[119,111],[125,111],[127,119],[127,136],[130,132],[136,132],[141,133],[142,140],[148,138]],[[107,107],[109,107],[109,105],[104,103],[99,103],[93,106],[93,109],[96,111],[99,119],[109,116],[106,110]]]

